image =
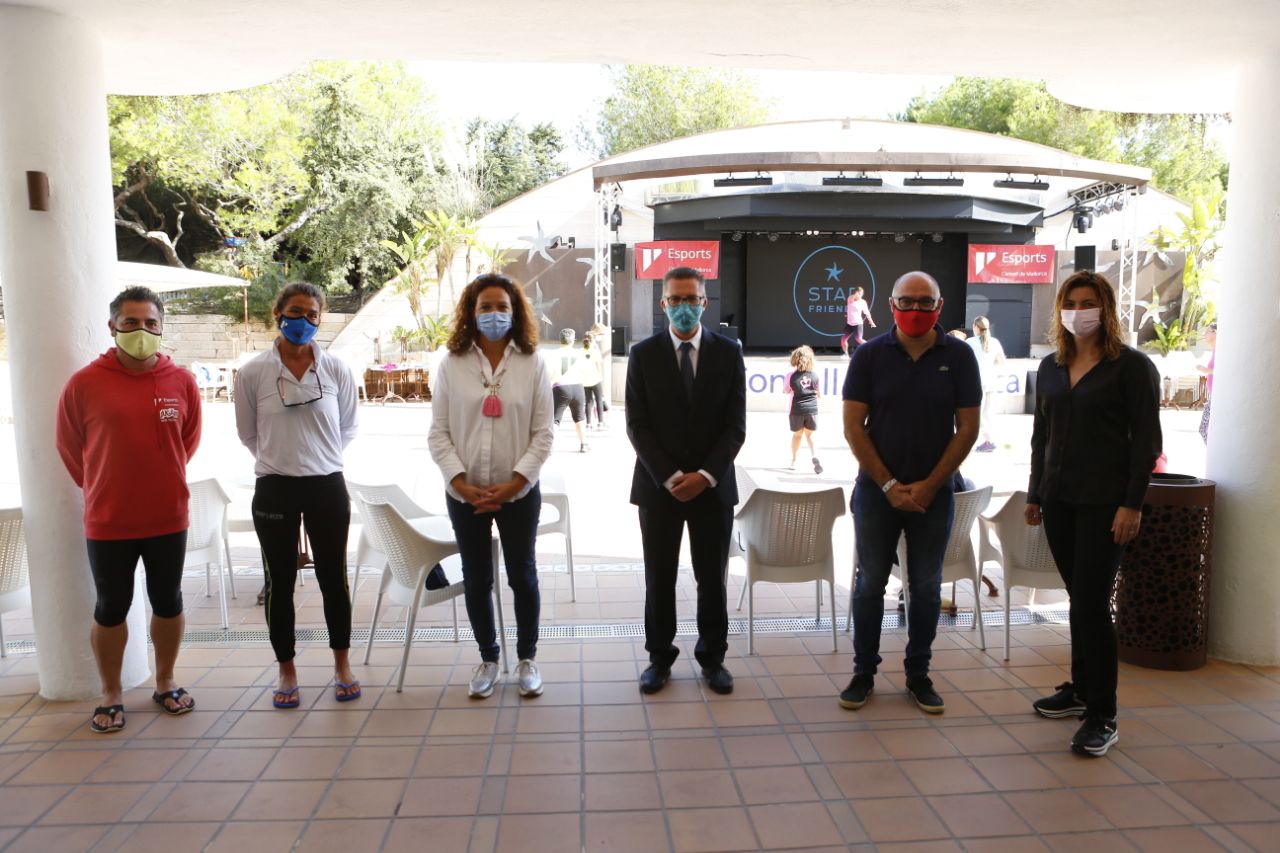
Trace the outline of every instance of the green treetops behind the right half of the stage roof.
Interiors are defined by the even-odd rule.
[[[963,127],[1039,142],[1096,160],[1152,170],[1152,183],[1183,199],[1226,186],[1226,158],[1207,137],[1212,115],[1144,115],[1064,104],[1037,81],[959,77],[919,95],[899,120]]]

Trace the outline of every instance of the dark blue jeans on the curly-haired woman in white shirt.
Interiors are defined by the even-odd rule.
[[[538,540],[538,516],[543,508],[543,493],[538,484],[529,494],[503,503],[497,512],[477,515],[475,507],[445,496],[453,535],[462,556],[462,589],[467,603],[467,619],[480,647],[480,660],[498,660],[498,631],[493,620],[493,551],[492,529],[498,523],[502,557],[507,564],[507,584],[511,587],[516,610],[516,654],[520,660],[532,660],[538,654],[538,615],[541,596],[538,592],[538,560],[534,556]]]

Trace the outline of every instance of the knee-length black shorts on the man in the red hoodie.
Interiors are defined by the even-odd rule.
[[[187,560],[187,532],[146,539],[86,539],[88,567],[97,587],[93,621],[115,628],[133,603],[133,573],[138,558],[147,574],[151,612],[160,619],[182,615],[182,564]]]

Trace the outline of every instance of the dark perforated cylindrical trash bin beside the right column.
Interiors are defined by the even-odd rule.
[[[1156,670],[1204,666],[1216,484],[1152,474],[1138,538],[1114,593],[1120,660]]]

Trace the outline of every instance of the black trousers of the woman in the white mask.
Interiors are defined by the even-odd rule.
[[[1071,597],[1071,684],[1091,716],[1116,716],[1120,657],[1111,590],[1124,547],[1111,523],[1115,506],[1051,502],[1041,507],[1044,538]]]

